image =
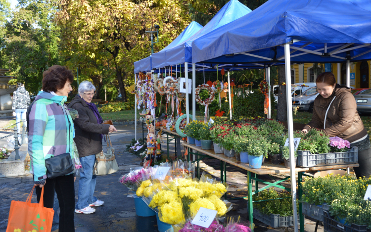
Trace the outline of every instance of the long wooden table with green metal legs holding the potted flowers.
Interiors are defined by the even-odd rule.
[[[203,150],[201,147],[196,146],[195,144],[189,144],[184,142],[183,146],[187,148],[188,151],[188,156],[187,160],[190,160],[190,155],[196,155],[197,159],[194,160],[193,162],[196,162],[196,173],[197,177],[199,178],[200,176],[200,165],[199,162],[201,159],[205,157],[210,157],[214,159],[218,159],[221,161],[220,164],[220,179],[223,181],[223,183],[227,182],[227,166],[226,164],[231,164],[233,166],[236,166],[238,168],[244,169],[247,171],[247,183],[248,183],[248,207],[247,207],[247,214],[248,214],[248,219],[250,223],[253,223],[253,200],[252,200],[252,195],[257,194],[264,189],[267,189],[269,187],[278,187],[281,189],[285,189],[287,191],[291,191],[290,188],[282,186],[280,183],[286,181],[290,177],[286,177],[284,179],[276,181],[274,178],[273,180],[275,181],[274,183],[263,181],[259,179],[259,175],[271,175],[271,174],[279,174],[279,173],[290,173],[290,169],[286,168],[284,165],[280,164],[271,164],[271,163],[264,163],[261,168],[259,169],[254,169],[250,168],[248,164],[241,163],[240,161],[237,161],[235,157],[226,157],[224,154],[216,154],[214,153],[214,149],[212,148],[211,150]],[[195,152],[191,152],[191,149]],[[199,158],[199,156],[201,156]],[[302,188],[302,181],[303,181],[303,176],[308,176],[312,177],[309,175],[304,174],[304,172],[310,172],[310,171],[325,171],[325,170],[335,170],[335,169],[345,169],[345,168],[353,168],[353,167],[359,167],[359,164],[338,164],[338,165],[330,165],[330,166],[316,166],[316,167],[310,167],[310,168],[302,168],[302,167],[296,167],[295,172],[298,173],[298,200],[301,200],[302,195],[303,195],[303,188]],[[254,177],[253,175],[254,174]],[[252,184],[253,181],[255,181],[255,191],[252,190]],[[262,188],[259,188],[259,182],[267,185]],[[274,199],[271,199],[274,200]],[[303,215],[303,209],[301,204],[299,204],[299,222],[300,222],[300,231],[304,232],[304,215]]]

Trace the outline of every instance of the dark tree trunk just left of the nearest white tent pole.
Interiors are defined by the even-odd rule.
[[[277,120],[287,122],[287,102],[286,102],[286,86],[281,84],[286,82],[285,66],[278,66],[278,102],[277,102]]]

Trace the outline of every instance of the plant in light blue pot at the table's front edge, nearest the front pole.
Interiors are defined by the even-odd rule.
[[[269,141],[262,136],[255,136],[249,139],[246,151],[249,154],[250,168],[261,168],[263,156],[268,157]]]

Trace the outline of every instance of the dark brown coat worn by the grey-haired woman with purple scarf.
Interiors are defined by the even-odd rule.
[[[79,118],[73,120],[75,138],[80,157],[95,155],[103,150],[101,134],[108,134],[108,124],[98,124],[93,110],[78,95],[68,104],[69,108],[79,112]]]

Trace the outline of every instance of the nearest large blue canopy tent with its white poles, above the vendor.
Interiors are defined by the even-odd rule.
[[[286,92],[290,91],[290,64],[347,64],[371,59],[370,0],[269,0],[253,12],[192,42],[192,62],[285,62]],[[297,232],[292,98],[287,94],[291,161],[291,190]],[[252,204],[252,202],[249,203]],[[249,212],[252,219],[252,212]],[[300,221],[304,231],[304,221]]]

